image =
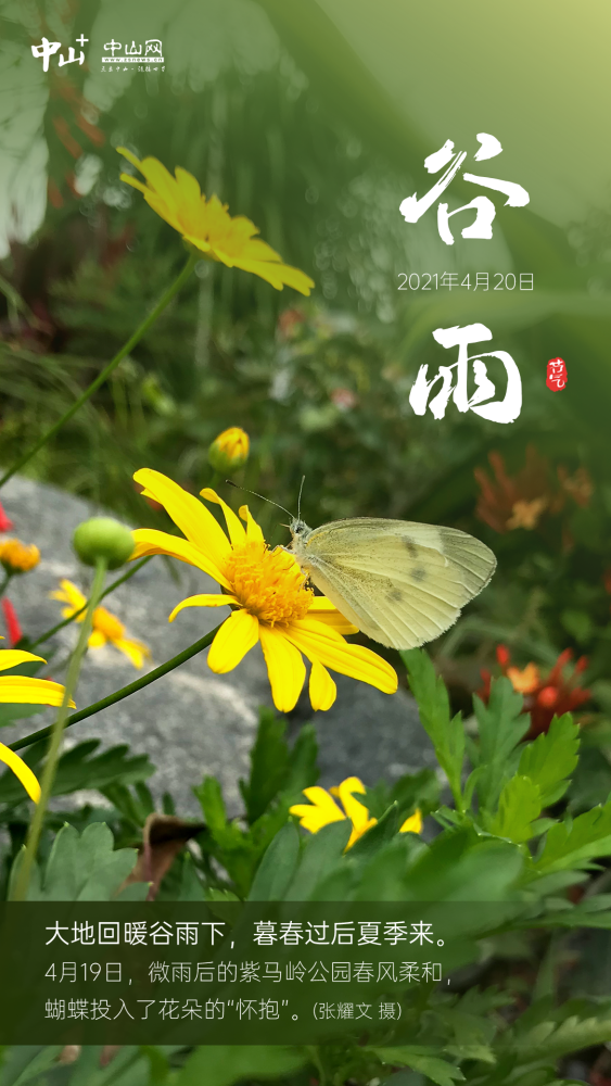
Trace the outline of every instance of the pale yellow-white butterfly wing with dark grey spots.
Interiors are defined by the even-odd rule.
[[[472,535],[407,520],[332,521],[295,539],[293,550],[345,618],[392,648],[438,637],[496,567]]]

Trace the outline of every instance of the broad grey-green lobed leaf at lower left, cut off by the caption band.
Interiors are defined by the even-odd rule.
[[[11,883],[21,867],[23,849],[13,863]],[[93,822],[81,834],[64,825],[53,842],[41,879],[33,877],[28,900],[33,901],[111,901],[133,870],[135,848],[115,851],[111,830],[105,822]]]

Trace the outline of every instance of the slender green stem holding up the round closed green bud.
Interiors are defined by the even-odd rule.
[[[14,901],[25,901],[27,898],[29,876],[34,861],[36,859],[36,854],[38,851],[38,843],[40,841],[42,824],[44,822],[47,805],[49,803],[49,799],[51,797],[51,792],[53,788],[53,781],[55,779],[55,770],[58,768],[58,759],[60,757],[60,748],[62,745],[62,736],[64,734],[64,728],[68,715],[68,707],[73,698],[73,694],[76,690],[76,685],[78,683],[80,665],[82,662],[82,657],[85,656],[87,649],[87,642],[89,639],[89,634],[91,633],[93,611],[96,610],[96,607],[100,603],[100,596],[102,594],[102,589],[104,586],[105,576],[106,576],[106,559],[98,558],[98,561],[96,564],[96,573],[93,576],[93,584],[91,585],[91,595],[89,596],[89,602],[87,604],[87,614],[85,616],[85,620],[80,628],[78,641],[76,643],[76,648],[71,657],[68,673],[66,675],[66,684],[64,687],[64,697],[60,706],[55,723],[50,729],[47,729],[47,731],[50,733],[51,742],[49,744],[49,753],[47,755],[44,769],[42,771],[42,780],[40,782],[40,799],[36,805],[34,811],[34,818],[29,824],[27,838],[25,843],[25,853],[23,854],[23,859],[17,873],[16,885],[13,894]]]

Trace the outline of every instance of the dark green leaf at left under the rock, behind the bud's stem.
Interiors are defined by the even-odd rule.
[[[155,772],[147,754],[130,755],[127,745],[111,747],[93,757],[100,740],[86,740],[60,758],[53,782],[53,795],[64,796],[80,788],[97,788],[103,792],[109,785],[136,784]],[[35,743],[25,754],[24,761],[39,776],[48,743]],[[7,770],[0,776],[0,803],[15,804],[24,798],[24,788],[14,773]]]

